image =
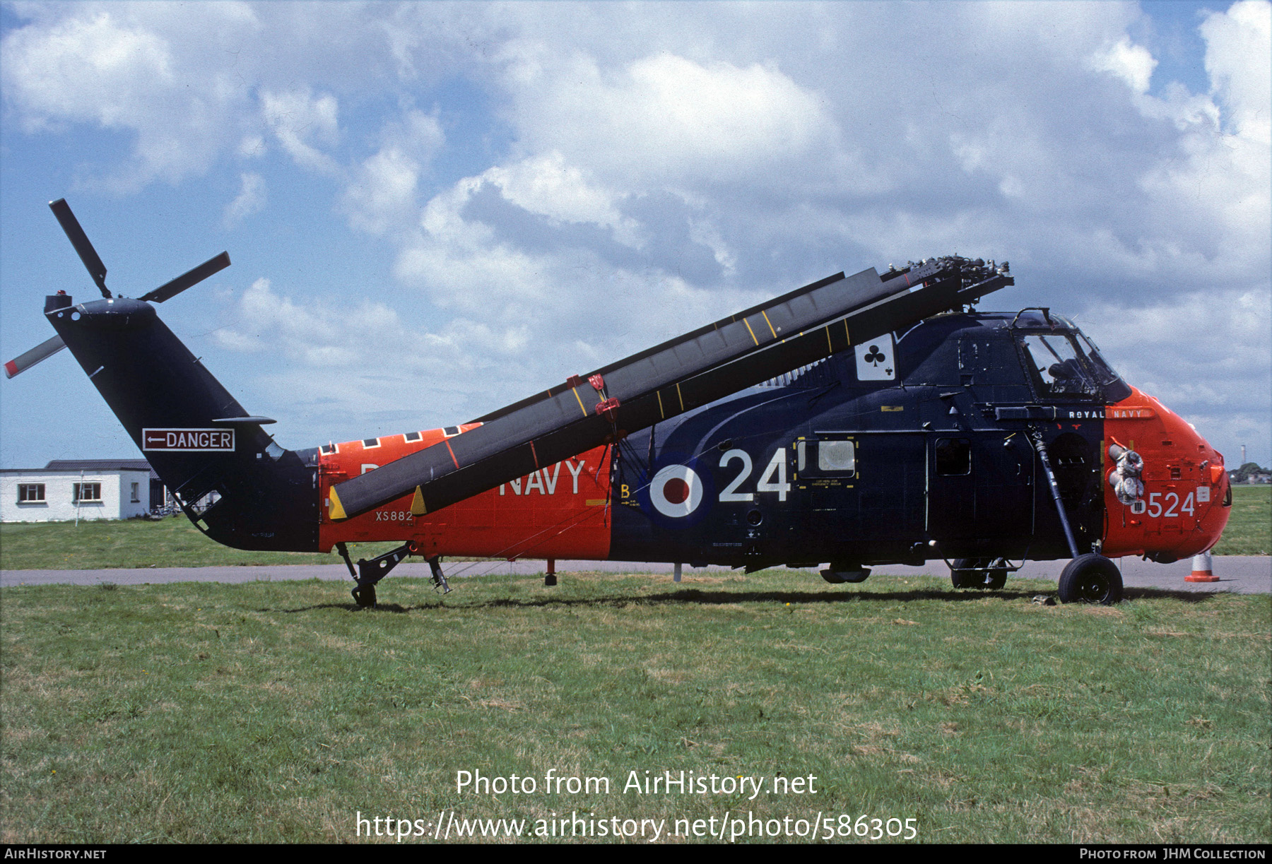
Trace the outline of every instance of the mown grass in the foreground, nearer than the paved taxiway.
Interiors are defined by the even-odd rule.
[[[359,814],[452,812],[1272,840],[1267,597],[1047,607],[1054,585],[1014,584],[593,574],[441,601],[394,579],[374,611],[318,582],[0,589],[0,840],[354,841]],[[682,770],[764,785],[623,790]],[[458,771],[538,788],[457,791]],[[550,771],[611,789],[548,794]]]

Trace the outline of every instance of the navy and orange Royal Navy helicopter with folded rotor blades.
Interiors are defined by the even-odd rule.
[[[1071,559],[1063,602],[1114,603],[1112,557],[1208,550],[1227,522],[1224,457],[1124,383],[1047,308],[976,312],[1006,262],[929,258],[842,272],[445,429],[287,450],[168,330],[163,303],[221,253],[137,298],[65,200],[50,205],[103,299],[46,299],[69,347],[212,540],[336,550],[359,606],[408,555],[869,568],[943,559],[957,588],[1001,588],[1027,559]],[[215,492],[215,495],[212,495]],[[214,500],[211,505],[204,503]],[[350,542],[401,546],[355,566]],[[1015,561],[1019,561],[1016,564]]]

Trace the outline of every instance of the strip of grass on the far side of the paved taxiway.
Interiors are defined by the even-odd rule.
[[[393,543],[351,545],[375,557]],[[1238,486],[1233,513],[1215,555],[1272,554],[1272,487]],[[457,559],[450,559],[457,560]],[[336,555],[243,552],[216,543],[184,517],[163,522],[4,523],[0,570],[92,570],[98,568],[197,568],[234,564],[340,564]]]

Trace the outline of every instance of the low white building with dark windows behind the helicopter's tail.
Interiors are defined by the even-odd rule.
[[[144,459],[0,468],[0,522],[131,519],[148,513],[150,466]]]

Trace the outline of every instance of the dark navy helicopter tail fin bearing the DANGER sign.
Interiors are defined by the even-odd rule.
[[[238,548],[314,550],[313,452],[282,450],[142,300],[73,305],[46,314],[182,509]],[[209,492],[220,499],[197,513]],[[202,524],[200,524],[202,523]]]

